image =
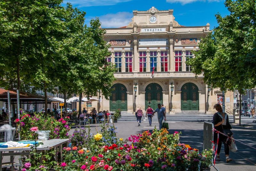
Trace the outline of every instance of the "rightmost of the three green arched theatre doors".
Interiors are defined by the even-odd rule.
[[[188,82],[181,87],[181,110],[199,110],[199,93],[196,84]]]

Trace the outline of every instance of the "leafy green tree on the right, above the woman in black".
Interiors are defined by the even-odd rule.
[[[203,73],[212,88],[238,90],[241,95],[256,85],[256,2],[226,0],[225,6],[230,14],[216,14],[219,26],[202,39],[199,51],[193,52],[195,58],[186,64],[192,66],[192,73]]]

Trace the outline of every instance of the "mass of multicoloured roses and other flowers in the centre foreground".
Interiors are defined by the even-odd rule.
[[[76,128],[71,147],[64,147],[64,161],[56,170],[191,170],[200,164],[209,166],[212,151],[202,154],[180,144],[181,133],[166,129],[145,131],[125,141],[116,137],[116,128],[103,124],[101,134],[90,134],[90,128]],[[136,144],[136,145],[135,145]],[[207,155],[206,155],[207,154]]]

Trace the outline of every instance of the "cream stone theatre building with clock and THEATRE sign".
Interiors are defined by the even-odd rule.
[[[111,45],[106,60],[116,65],[112,95],[103,98],[98,110],[121,109],[134,113],[138,105],[145,110],[164,104],[166,112],[213,113],[213,105],[222,103],[219,89],[208,90],[203,74],[195,78],[186,65],[198,50],[201,37],[211,33],[210,24],[181,26],[173,10],[133,11],[128,25],[104,28],[104,39]],[[154,63],[154,74],[152,75]],[[233,109],[233,92],[226,93],[226,112]],[[96,105],[96,104],[95,104]]]

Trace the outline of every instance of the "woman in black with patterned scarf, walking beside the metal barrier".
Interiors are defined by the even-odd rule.
[[[213,121],[212,123],[214,124],[214,128],[218,130],[219,132],[223,133],[223,129],[232,129],[231,125],[229,124],[228,121],[228,115],[227,113],[222,112],[222,107],[220,104],[214,105],[213,109],[216,109],[218,112],[214,113],[213,115]],[[213,141],[214,143],[217,143],[218,139],[218,133],[214,133]],[[225,156],[226,156],[226,162],[232,161],[232,159],[229,158],[229,147],[228,145],[230,144],[230,139],[228,139],[227,136],[224,136],[222,134],[219,134],[219,142],[218,142],[218,147],[217,147],[217,158],[216,160],[220,160],[220,148],[221,144],[224,144],[224,151],[225,151]]]

